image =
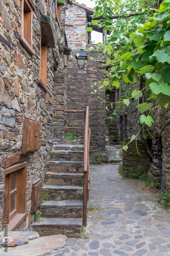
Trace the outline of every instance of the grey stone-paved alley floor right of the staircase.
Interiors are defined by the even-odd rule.
[[[122,179],[118,164],[92,165],[86,236],[68,238],[64,256],[170,255],[170,212],[138,180]]]

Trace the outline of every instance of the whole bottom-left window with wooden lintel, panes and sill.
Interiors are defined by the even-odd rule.
[[[6,193],[3,227],[8,223],[8,231],[15,231],[28,216],[26,212],[27,162],[4,169],[4,185]]]

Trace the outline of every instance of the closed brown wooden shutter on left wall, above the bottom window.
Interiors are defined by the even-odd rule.
[[[40,143],[40,122],[24,118],[22,133],[22,154],[38,150]]]

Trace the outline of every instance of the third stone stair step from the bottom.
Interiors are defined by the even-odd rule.
[[[43,191],[49,194],[48,200],[83,200],[83,187],[80,186],[44,185]]]

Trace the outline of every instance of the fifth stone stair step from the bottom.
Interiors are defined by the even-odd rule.
[[[83,161],[49,161],[48,171],[56,173],[83,173]]]

